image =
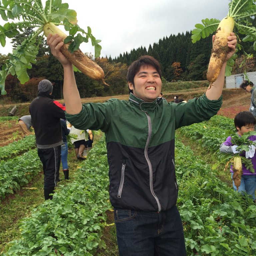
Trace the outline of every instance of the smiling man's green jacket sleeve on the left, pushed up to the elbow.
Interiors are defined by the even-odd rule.
[[[71,115],[66,113],[66,119],[80,130],[102,130],[109,128],[111,118],[115,112],[117,99],[110,99],[104,103],[86,103],[82,105],[80,113]]]

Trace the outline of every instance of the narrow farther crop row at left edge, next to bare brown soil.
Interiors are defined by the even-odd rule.
[[[24,138],[13,141],[0,148],[0,160],[8,159],[36,147],[35,135],[28,135]]]

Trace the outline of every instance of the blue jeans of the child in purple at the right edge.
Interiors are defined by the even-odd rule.
[[[233,173],[231,173],[231,179],[233,179]],[[233,181],[233,187],[237,190],[235,183]],[[255,190],[256,190],[256,175],[242,175],[241,185],[238,187],[238,192],[244,194],[246,192],[255,200]]]

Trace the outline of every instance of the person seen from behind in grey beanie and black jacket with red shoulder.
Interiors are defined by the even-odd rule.
[[[61,160],[62,129],[60,119],[65,119],[65,106],[54,100],[52,83],[42,80],[39,93],[31,102],[29,112],[36,136],[38,156],[44,171],[44,198],[52,199],[59,180]]]

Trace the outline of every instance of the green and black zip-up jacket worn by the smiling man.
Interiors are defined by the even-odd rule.
[[[176,204],[175,129],[210,119],[222,103],[205,95],[187,103],[128,101],[86,103],[66,119],[81,130],[105,132],[109,194],[115,208],[160,212]]]

